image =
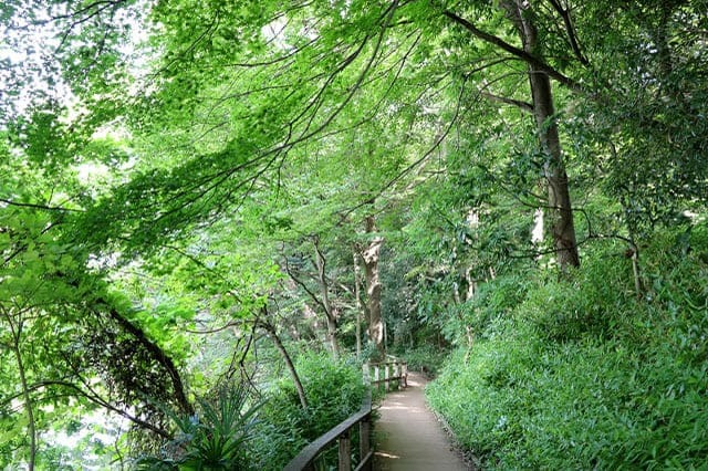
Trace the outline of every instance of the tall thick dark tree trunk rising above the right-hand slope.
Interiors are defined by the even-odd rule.
[[[501,6],[517,25],[524,52],[532,56],[540,55],[538,31],[524,12],[525,9],[531,8],[529,3],[519,0],[504,0]],[[553,116],[555,111],[553,109],[551,80],[538,64],[529,62],[529,84],[533,97],[533,116],[535,117],[539,140],[546,155],[543,176],[548,186],[548,214],[556,263],[561,271],[566,271],[570,266],[580,266],[580,255],[575,240],[568,175],[561,151],[561,139]]]

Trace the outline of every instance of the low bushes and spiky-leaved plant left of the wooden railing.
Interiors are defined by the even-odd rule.
[[[296,360],[308,397],[300,405],[290,377],[266,397],[249,397],[242,385],[222,388],[212,401],[200,401],[197,415],[169,414],[174,440],[156,456],[136,460],[149,470],[281,470],[309,442],[360,409],[364,386],[354,362],[308,353]],[[316,463],[332,460],[325,451]],[[336,457],[336,456],[335,456]],[[322,463],[320,463],[320,461]]]

